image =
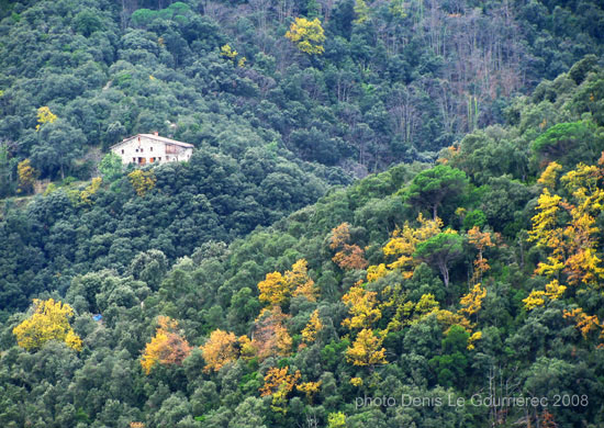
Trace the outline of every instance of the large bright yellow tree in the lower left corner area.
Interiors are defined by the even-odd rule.
[[[34,313],[23,323],[13,328],[16,342],[26,350],[38,350],[48,340],[58,340],[69,348],[81,350],[82,342],[69,325],[74,309],[68,304],[55,302],[53,299],[41,301],[34,299]]]

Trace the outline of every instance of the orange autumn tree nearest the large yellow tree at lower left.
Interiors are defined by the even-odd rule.
[[[145,346],[141,365],[149,374],[156,364],[180,365],[191,352],[189,342],[180,336],[178,322],[168,316],[157,317],[157,330],[152,341]]]

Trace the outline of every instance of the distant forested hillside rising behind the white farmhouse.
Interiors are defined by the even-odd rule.
[[[152,131],[359,177],[432,161],[604,37],[589,0],[0,4],[0,195],[20,161],[86,180],[99,150]]]

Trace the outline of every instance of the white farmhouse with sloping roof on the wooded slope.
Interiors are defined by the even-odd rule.
[[[166,164],[189,160],[193,145],[154,134],[137,134],[110,147],[122,164]]]

